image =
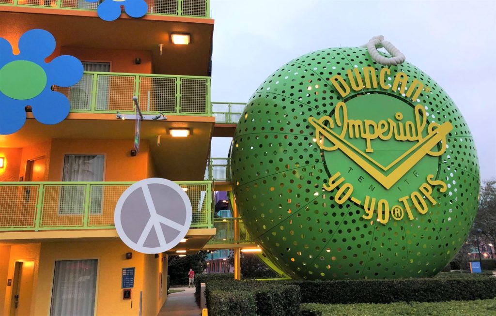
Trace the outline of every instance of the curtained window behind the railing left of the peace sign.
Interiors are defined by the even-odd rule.
[[[65,155],[62,181],[103,181],[103,155]],[[63,185],[59,214],[82,214],[86,186]],[[90,213],[102,213],[103,187],[91,186]]]

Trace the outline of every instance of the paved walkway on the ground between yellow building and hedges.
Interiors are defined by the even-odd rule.
[[[185,291],[169,294],[167,302],[165,302],[158,316],[200,316],[201,310],[194,300],[194,287],[175,289],[184,289]]]

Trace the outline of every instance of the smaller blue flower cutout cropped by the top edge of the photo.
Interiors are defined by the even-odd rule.
[[[98,2],[99,0],[86,0],[86,2]],[[105,21],[114,21],[121,16],[121,5],[130,17],[142,17],[148,11],[148,4],[144,0],[105,0],[98,5],[98,16]]]

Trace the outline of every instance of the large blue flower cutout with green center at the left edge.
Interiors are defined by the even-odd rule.
[[[24,125],[26,105],[31,105],[39,122],[60,123],[69,114],[69,100],[51,87],[70,87],[83,76],[76,57],[62,55],[45,62],[55,51],[50,32],[27,31],[18,47],[20,53],[14,55],[10,43],[0,38],[0,135],[15,133]]]

